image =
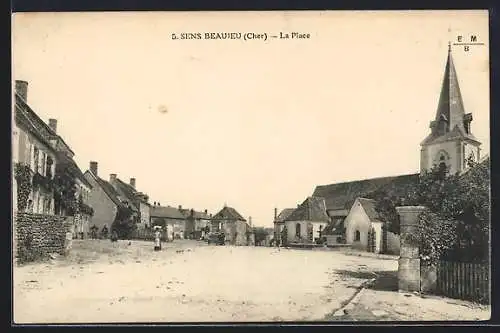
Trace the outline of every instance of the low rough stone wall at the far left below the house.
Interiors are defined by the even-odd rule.
[[[16,262],[46,258],[51,253],[66,255],[71,249],[73,220],[65,216],[17,213]]]

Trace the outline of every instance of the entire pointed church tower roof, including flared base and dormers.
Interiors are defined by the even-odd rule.
[[[444,121],[446,124],[441,132],[439,124]],[[448,58],[444,70],[441,94],[439,96],[436,118],[431,122],[432,132],[421,143],[422,145],[448,141],[457,138],[469,139],[475,142],[478,140],[469,131],[467,133],[464,122],[472,121],[472,114],[465,113],[462,93],[458,83],[457,71],[453,63],[451,46],[448,47]]]

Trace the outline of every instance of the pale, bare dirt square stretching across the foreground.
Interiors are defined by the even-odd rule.
[[[73,247],[67,258],[14,269],[16,323],[321,320],[370,271],[397,270],[395,260],[334,251],[196,241],[167,243],[161,252],[140,241]]]

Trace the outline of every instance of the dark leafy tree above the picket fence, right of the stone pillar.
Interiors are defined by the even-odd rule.
[[[465,174],[450,175],[436,166],[408,193],[408,205],[428,208],[419,217],[424,260],[489,258],[489,161],[469,161],[469,167]]]

